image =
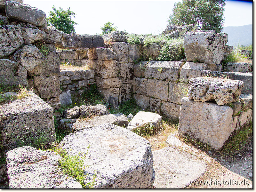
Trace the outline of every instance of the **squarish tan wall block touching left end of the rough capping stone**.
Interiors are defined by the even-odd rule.
[[[188,84],[169,82],[169,97],[168,101],[180,104],[183,97],[187,97]]]

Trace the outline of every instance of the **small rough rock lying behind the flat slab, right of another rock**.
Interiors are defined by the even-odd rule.
[[[95,115],[108,115],[108,109],[104,105],[97,104],[96,106],[82,105],[79,108],[80,117],[90,117]]]

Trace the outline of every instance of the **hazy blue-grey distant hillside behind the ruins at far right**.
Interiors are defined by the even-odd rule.
[[[252,25],[224,27],[223,32],[228,34],[228,45],[237,47],[238,43],[244,46],[252,44]]]

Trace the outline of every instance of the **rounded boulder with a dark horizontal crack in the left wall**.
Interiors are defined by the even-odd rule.
[[[41,65],[46,58],[35,45],[25,45],[14,53],[13,58],[19,62],[28,72]]]

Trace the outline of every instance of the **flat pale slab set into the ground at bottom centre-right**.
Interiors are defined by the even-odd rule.
[[[206,163],[177,147],[153,151],[156,188],[184,188],[206,171]]]

